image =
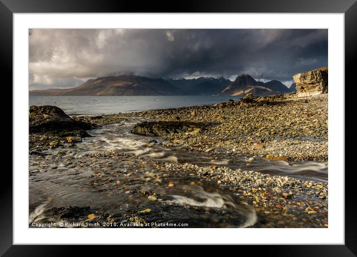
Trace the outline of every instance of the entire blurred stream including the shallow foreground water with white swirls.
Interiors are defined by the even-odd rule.
[[[145,120],[130,118],[93,129],[90,131],[93,137],[73,147],[43,151],[49,154],[47,156],[30,155],[30,222],[48,218],[43,212],[59,206],[90,206],[92,211],[101,213],[149,208],[155,214],[148,216],[149,221],[189,223],[190,227],[250,227],[257,222],[254,208],[239,195],[217,184],[200,181],[189,172],[167,172],[145,162],[149,158],[246,169],[250,156],[212,157],[165,147],[161,138],[130,132],[136,123]],[[117,158],[87,156],[106,151],[125,154]],[[324,162],[256,158],[249,169],[303,180],[327,182],[328,178],[328,164]],[[116,181],[120,181],[120,185]],[[170,183],[175,186],[168,187]],[[151,194],[155,194],[158,201],[148,200]]]

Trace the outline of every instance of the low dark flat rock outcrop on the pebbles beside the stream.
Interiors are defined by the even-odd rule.
[[[194,122],[143,122],[136,124],[131,132],[142,135],[163,136],[170,133],[195,133],[205,127],[206,125],[203,123]]]

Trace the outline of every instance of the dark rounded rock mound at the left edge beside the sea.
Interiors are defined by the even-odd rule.
[[[76,121],[66,115],[56,106],[30,106],[29,109],[29,132],[52,133],[58,136],[90,136],[86,130],[91,125]]]

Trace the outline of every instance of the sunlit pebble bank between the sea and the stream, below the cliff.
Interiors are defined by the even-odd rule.
[[[238,153],[289,160],[328,160],[328,95],[307,98],[261,97],[262,105],[228,101],[209,106],[122,114],[160,121],[216,124],[170,133],[169,146],[212,154]]]

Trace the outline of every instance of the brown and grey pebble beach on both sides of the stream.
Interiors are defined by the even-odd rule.
[[[62,208],[58,205],[53,207],[57,209],[47,209],[44,212],[56,217],[62,217],[63,213],[66,213],[63,217],[67,217],[70,212],[72,216],[66,218],[70,220],[76,220],[81,215],[93,214],[94,218],[90,219],[92,223],[104,224],[109,221],[150,223],[159,219],[158,217],[164,219],[160,213],[163,212],[162,208],[168,208],[173,201],[166,199],[168,195],[172,195],[170,191],[181,190],[184,186],[197,186],[209,192],[214,188],[222,195],[227,194],[237,198],[254,208],[255,222],[244,223],[249,225],[247,227],[326,228],[328,227],[328,183],[263,174],[251,169],[250,166],[259,158],[271,162],[297,160],[327,162],[327,103],[327,94],[309,97],[308,101],[306,98],[284,95],[258,97],[248,103],[228,101],[206,106],[73,117],[76,121],[97,128],[105,128],[134,118],[147,119],[149,122],[145,125],[141,125],[144,123],[135,125],[139,128],[143,127],[142,130],[134,129],[132,132],[146,131],[144,133],[149,134],[143,134],[144,136],[155,135],[162,138],[163,147],[201,153],[213,161],[217,158],[235,158],[244,154],[247,156],[246,164],[239,169],[215,164],[202,166],[161,161],[153,159],[150,155],[122,151],[92,152],[74,158],[71,153],[81,147],[81,140],[76,141],[73,139],[75,137],[63,137],[56,133],[30,133],[30,156],[33,156],[33,165],[30,161],[30,177],[47,172],[49,167],[43,164],[43,160],[51,159],[52,163],[61,164],[51,167],[50,172],[59,172],[58,169],[69,172],[71,169],[90,168],[91,171],[88,171],[88,175],[84,178],[84,192],[100,190],[108,193],[109,196],[106,197],[119,194],[121,197],[124,195],[131,199],[128,200],[131,203],[129,209],[122,212],[108,212],[105,209],[95,208],[93,210],[87,208],[86,211],[71,209],[74,207],[66,207],[67,209],[63,207],[62,210],[58,209]],[[159,127],[146,129],[158,121],[162,122],[159,125],[155,124]],[[180,127],[166,128],[167,122],[173,125],[179,124]],[[91,134],[90,130],[88,133]],[[148,141],[145,147],[151,147],[152,144],[152,141]],[[118,170],[118,165],[115,166],[121,162],[126,163],[123,164],[125,170]],[[137,184],[134,186],[133,181],[137,179],[134,177],[139,175],[147,182],[141,186]],[[159,203],[165,207],[153,206]],[[189,208],[190,212],[202,213],[207,217],[213,212],[207,206],[198,205]],[[192,217],[197,213],[191,213]],[[52,221],[48,217],[44,220]],[[217,220],[215,224],[216,227],[221,227],[218,224],[223,223]],[[202,224],[196,225],[196,227],[202,226]]]

